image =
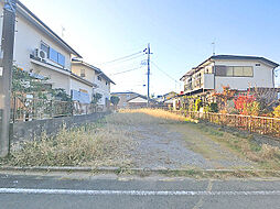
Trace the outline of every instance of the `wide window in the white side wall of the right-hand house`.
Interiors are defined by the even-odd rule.
[[[252,77],[252,67],[217,65],[215,75],[225,77]]]

